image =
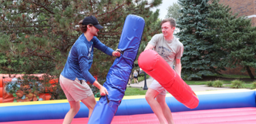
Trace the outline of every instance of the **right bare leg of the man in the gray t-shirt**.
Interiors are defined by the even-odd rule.
[[[170,112],[170,108],[169,108],[169,106],[167,106],[167,102],[165,102],[165,96],[159,94],[157,96],[157,102],[160,104],[160,106],[163,110],[163,115],[164,115],[165,119],[167,119],[168,124],[174,124],[173,116]]]

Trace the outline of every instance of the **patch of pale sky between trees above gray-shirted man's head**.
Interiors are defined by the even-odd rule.
[[[159,12],[159,17],[160,19],[164,19],[165,16],[167,15],[167,8],[170,5],[173,5],[173,3],[177,2],[177,0],[162,0],[162,4],[160,4],[159,6],[157,6],[158,9],[160,9]],[[157,10],[157,8],[152,8],[152,11],[155,12]]]

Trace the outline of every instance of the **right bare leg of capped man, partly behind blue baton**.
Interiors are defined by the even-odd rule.
[[[95,97],[93,95],[89,96],[86,99],[82,99],[81,102],[83,102],[83,104],[85,104],[86,107],[89,109],[89,116],[88,116],[89,118],[92,115],[93,109],[96,105]]]

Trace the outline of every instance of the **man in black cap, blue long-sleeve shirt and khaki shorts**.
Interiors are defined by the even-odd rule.
[[[61,75],[59,75],[59,83],[70,105],[69,112],[66,113],[63,123],[72,122],[72,119],[80,109],[79,101],[87,106],[89,117],[91,116],[96,100],[92,89],[86,83],[87,81],[99,89],[101,96],[108,94],[106,88],[100,85],[89,72],[93,64],[93,48],[99,49],[107,55],[120,57],[120,52],[110,49],[96,38],[99,29],[103,28],[103,26],[99,25],[94,16],[91,15],[81,20],[79,28],[83,34],[72,45],[66,65]]]

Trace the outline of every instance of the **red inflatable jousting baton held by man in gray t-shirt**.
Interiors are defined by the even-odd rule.
[[[142,52],[138,64],[184,106],[190,109],[198,106],[197,95],[157,52],[151,49]]]

